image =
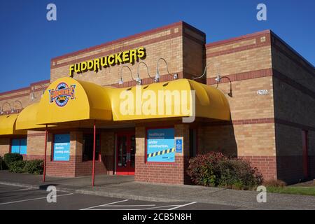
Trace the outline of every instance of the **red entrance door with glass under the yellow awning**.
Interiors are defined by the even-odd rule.
[[[117,134],[116,174],[134,175],[136,138],[134,132]]]

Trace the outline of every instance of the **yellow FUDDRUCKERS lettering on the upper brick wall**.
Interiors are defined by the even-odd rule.
[[[102,69],[102,67],[106,68],[116,64],[134,64],[134,62],[136,62],[138,59],[143,59],[144,57],[146,57],[145,48],[141,47],[133,50],[126,50],[109,56],[91,59],[86,62],[71,64],[69,67],[69,76],[73,77],[74,73],[83,73],[85,71],[97,72],[99,69]]]

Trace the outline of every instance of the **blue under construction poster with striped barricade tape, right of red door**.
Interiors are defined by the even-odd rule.
[[[174,128],[151,129],[147,137],[148,162],[175,162]]]

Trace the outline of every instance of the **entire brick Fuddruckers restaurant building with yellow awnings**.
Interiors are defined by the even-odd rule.
[[[314,66],[270,30],[205,41],[176,22],[51,59],[50,79],[0,94],[0,154],[46,158],[48,176],[185,184],[189,158],[216,151],[314,179]]]

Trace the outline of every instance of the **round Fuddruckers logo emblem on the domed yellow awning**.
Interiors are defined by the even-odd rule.
[[[49,102],[55,101],[57,106],[63,107],[69,102],[70,99],[75,97],[76,85],[70,87],[66,83],[59,83],[55,90],[49,91]]]

